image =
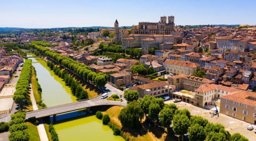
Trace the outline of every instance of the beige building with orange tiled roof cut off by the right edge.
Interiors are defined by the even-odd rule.
[[[220,113],[256,124],[256,93],[235,91],[220,97]]]

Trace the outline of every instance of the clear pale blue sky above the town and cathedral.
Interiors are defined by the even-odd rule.
[[[0,27],[119,26],[158,22],[176,25],[256,24],[256,0],[1,0]]]

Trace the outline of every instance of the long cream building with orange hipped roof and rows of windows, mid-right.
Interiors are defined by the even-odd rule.
[[[197,69],[200,69],[201,65],[197,63],[167,59],[163,62],[163,67],[168,74],[173,73],[175,75],[190,75],[196,72]]]

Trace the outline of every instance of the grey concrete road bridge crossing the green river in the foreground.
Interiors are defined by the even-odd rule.
[[[68,104],[63,104],[63,105],[57,105],[57,106],[52,106],[49,108],[45,109],[40,109],[40,110],[35,110],[35,111],[30,111],[26,113],[26,119],[30,117],[36,117],[36,118],[43,118],[47,116],[53,116],[53,119],[56,120],[56,115],[57,114],[62,114],[66,112],[71,112],[71,111],[76,111],[80,109],[85,109],[87,111],[90,111],[90,107],[94,106],[123,106],[125,107],[126,101],[120,102],[120,101],[107,101],[107,100],[101,100],[100,97],[94,98],[92,100],[82,100],[82,101],[77,101],[75,103],[68,103]],[[9,122],[11,120],[11,117],[5,117],[0,119],[1,121],[4,122]]]

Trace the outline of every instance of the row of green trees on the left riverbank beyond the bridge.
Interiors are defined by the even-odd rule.
[[[32,60],[27,59],[21,70],[20,78],[16,84],[16,91],[13,95],[13,100],[15,103],[22,105],[24,102],[28,103],[30,101],[27,97],[29,89],[29,80],[32,74]]]

